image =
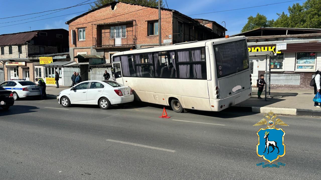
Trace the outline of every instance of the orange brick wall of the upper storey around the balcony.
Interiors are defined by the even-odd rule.
[[[162,40],[168,39],[168,35],[172,34],[172,16],[171,12],[161,11],[161,26],[162,26]],[[125,3],[117,3],[114,10],[111,6],[107,6],[86,14],[69,24],[69,32],[76,31],[76,46],[90,47],[93,45],[92,37],[97,37],[97,29],[95,25],[100,23],[110,23],[117,21],[136,20],[136,37],[137,44],[158,44],[159,36],[147,36],[148,21],[158,19],[158,9],[144,7],[140,5],[132,5]],[[78,40],[78,29],[85,28],[85,40]],[[69,36],[69,48],[72,51],[76,46],[72,44],[72,37]]]

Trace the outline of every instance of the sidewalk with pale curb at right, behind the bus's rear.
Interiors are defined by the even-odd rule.
[[[257,99],[257,88],[253,88],[252,97],[234,107],[251,108],[253,112],[265,113],[272,110],[276,114],[321,116],[321,108],[313,106],[313,90],[272,89],[267,101],[264,99],[265,92],[261,97],[263,99]]]

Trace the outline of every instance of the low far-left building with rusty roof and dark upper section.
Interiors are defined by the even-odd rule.
[[[65,29],[46,29],[0,35],[4,80],[33,81],[39,60],[30,60],[29,56],[68,52],[68,34]]]

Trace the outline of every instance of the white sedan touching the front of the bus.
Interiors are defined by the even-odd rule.
[[[108,109],[112,104],[134,101],[132,88],[115,81],[84,81],[59,93],[58,102],[63,107],[70,104],[98,104]]]

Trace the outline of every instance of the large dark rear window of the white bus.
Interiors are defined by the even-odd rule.
[[[214,45],[217,77],[221,78],[248,69],[247,51],[245,39]]]

